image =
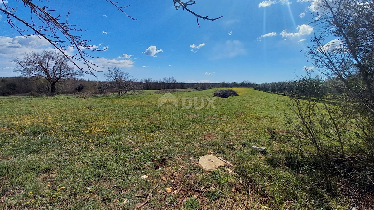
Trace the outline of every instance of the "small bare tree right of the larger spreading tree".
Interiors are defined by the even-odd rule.
[[[108,71],[104,76],[107,81],[101,82],[98,88],[101,90],[113,90],[118,95],[126,95],[128,93],[140,93],[141,86],[137,80],[129,75],[128,72],[123,72],[122,69],[117,67],[108,67]]]

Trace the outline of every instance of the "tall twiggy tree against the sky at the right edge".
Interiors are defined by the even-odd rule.
[[[318,12],[319,29],[307,57],[319,73],[336,78],[347,97],[374,117],[374,1],[316,2],[312,9]]]

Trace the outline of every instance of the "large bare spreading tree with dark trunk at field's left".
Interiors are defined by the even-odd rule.
[[[18,57],[13,59],[12,62],[16,65],[13,72],[18,72],[24,77],[44,78],[50,85],[49,92],[51,94],[55,93],[56,83],[60,80],[83,75],[83,72],[70,66],[69,59],[59,52],[44,50],[42,53],[25,54],[22,59]]]

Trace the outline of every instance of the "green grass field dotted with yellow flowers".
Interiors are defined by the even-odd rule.
[[[347,209],[319,184],[318,164],[270,140],[288,98],[234,90],[202,109],[181,101],[200,105],[214,89],[173,93],[178,108],[158,108],[162,94],[0,98],[2,208],[136,209],[153,189],[140,209]],[[198,166],[209,151],[237,175]]]

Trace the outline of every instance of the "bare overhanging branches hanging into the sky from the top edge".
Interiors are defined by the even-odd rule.
[[[48,1],[48,0],[45,0]],[[136,20],[132,16],[125,12],[128,6],[120,6],[119,2],[112,0],[105,0],[120,12],[125,14],[128,18]],[[49,2],[49,1],[48,1]],[[214,21],[219,18],[208,18],[208,16],[201,16],[193,12],[188,6],[195,4],[195,1],[189,0],[183,2],[181,0],[173,0],[175,9],[182,8],[187,10],[194,16],[196,16],[197,24],[199,25],[199,19]],[[45,38],[53,47],[59,50],[67,59],[69,59],[80,71],[94,75],[95,67],[98,65],[91,60],[95,58],[90,55],[90,52],[103,51],[105,49],[98,49],[95,46],[89,44],[89,41],[80,35],[85,32],[78,25],[71,24],[68,22],[69,12],[65,19],[61,18],[61,15],[53,16],[51,12],[55,12],[47,6],[43,6],[44,1],[31,1],[31,0],[14,0],[10,3],[5,0],[0,0],[0,12],[6,15],[6,20],[11,28],[15,29],[19,34],[23,36],[37,35],[38,37]],[[21,12],[18,11],[19,7],[24,6],[30,10],[30,21],[22,18]],[[199,25],[200,27],[200,25]],[[66,53],[68,47],[73,47],[77,50],[75,55],[69,55]],[[87,68],[87,71],[80,66],[79,62],[83,62]]]

